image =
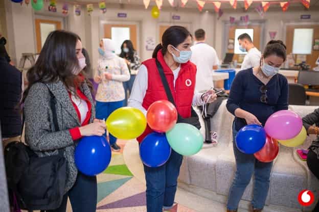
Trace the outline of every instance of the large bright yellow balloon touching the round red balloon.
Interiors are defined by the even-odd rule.
[[[135,139],[146,129],[146,117],[136,108],[124,107],[113,111],[107,118],[106,128],[118,139]]]

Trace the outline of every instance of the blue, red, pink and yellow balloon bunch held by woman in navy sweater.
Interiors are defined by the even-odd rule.
[[[296,147],[306,140],[306,129],[301,117],[288,110],[272,114],[265,127],[250,124],[241,128],[236,136],[237,148],[246,154],[254,154],[264,163],[274,161],[279,153],[279,143]]]

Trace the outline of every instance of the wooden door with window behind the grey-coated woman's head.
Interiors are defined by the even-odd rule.
[[[61,21],[35,19],[35,34],[37,42],[37,52],[40,53],[41,48],[50,32],[61,30]]]

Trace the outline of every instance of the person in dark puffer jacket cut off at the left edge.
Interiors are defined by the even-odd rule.
[[[22,95],[22,73],[10,65],[6,48],[0,44],[0,120],[4,146],[10,141],[18,141],[21,135],[22,120],[20,100]]]

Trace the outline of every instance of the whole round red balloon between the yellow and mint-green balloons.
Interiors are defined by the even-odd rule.
[[[148,125],[158,133],[172,129],[177,121],[177,111],[167,100],[155,101],[150,105],[146,115]]]

